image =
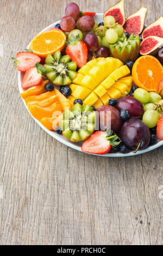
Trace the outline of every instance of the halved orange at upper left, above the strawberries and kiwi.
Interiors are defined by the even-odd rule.
[[[54,54],[58,50],[62,51],[66,44],[66,35],[62,31],[46,31],[37,35],[30,48],[36,55],[46,58],[48,54]]]

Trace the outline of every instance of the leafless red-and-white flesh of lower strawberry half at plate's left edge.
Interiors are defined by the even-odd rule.
[[[38,86],[43,80],[41,74],[37,72],[37,69],[30,68],[26,71],[22,81],[22,88],[26,89],[33,86]]]

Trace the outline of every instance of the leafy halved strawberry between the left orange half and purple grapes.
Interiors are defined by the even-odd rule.
[[[82,68],[87,63],[87,46],[84,42],[78,40],[79,35],[76,38],[73,35],[71,36],[71,40],[67,42],[66,54],[77,63],[79,68]]]

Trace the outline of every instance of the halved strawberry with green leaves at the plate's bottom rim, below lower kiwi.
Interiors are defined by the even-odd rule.
[[[82,151],[91,154],[104,155],[108,153],[116,145],[120,144],[117,142],[117,135],[112,136],[112,131],[110,132],[110,137],[104,131],[94,132],[82,145]]]

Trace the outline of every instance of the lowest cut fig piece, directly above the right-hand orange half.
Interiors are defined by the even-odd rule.
[[[148,36],[145,38],[140,45],[141,55],[155,55],[159,51],[159,47],[163,45],[163,38],[158,36]]]

